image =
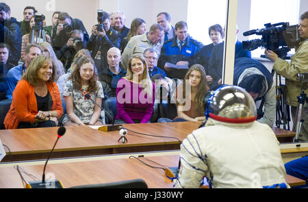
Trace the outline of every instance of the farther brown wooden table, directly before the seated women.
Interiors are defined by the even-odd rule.
[[[119,131],[101,131],[97,127],[69,126],[55,146],[51,158],[106,155],[180,148],[181,141],[201,122],[124,124],[127,142],[119,140]],[[2,162],[47,159],[59,127],[0,130],[0,139],[10,152]],[[277,138],[292,138],[294,132],[273,128]],[[136,133],[137,132],[137,133]],[[140,134],[142,133],[142,134]],[[146,134],[146,135],[145,135]],[[152,135],[152,136],[149,136]]]

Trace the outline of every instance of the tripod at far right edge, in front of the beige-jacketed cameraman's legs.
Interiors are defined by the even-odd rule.
[[[293,131],[296,129],[294,142],[298,142],[298,136],[300,134],[300,129],[304,122],[303,113],[304,113],[305,102],[308,105],[308,98],[307,98],[307,94],[305,93],[305,90],[307,90],[307,83],[302,84],[302,92],[300,93],[300,96],[297,97],[298,105],[296,108],[296,116],[295,116],[296,123],[293,125]]]

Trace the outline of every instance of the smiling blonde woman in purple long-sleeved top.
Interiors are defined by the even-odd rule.
[[[148,123],[155,101],[155,84],[151,81],[142,56],[129,60],[127,75],[118,81],[115,123]]]

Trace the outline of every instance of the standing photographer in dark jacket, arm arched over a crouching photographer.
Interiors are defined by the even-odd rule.
[[[52,36],[52,45],[55,52],[62,49],[64,45],[68,43],[68,40],[71,39],[72,32],[75,29],[79,29],[83,33],[83,43],[86,45],[86,42],[89,40],[88,32],[84,27],[84,23],[77,18],[71,18],[68,13],[60,12],[57,18],[57,25],[53,27],[53,36]],[[71,44],[72,42],[70,42]],[[60,58],[58,58],[60,59]]]

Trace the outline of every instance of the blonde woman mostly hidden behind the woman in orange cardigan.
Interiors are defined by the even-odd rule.
[[[51,47],[49,42],[41,42],[40,49],[42,49],[42,53],[44,55],[47,55],[51,59],[53,59],[53,62],[55,63],[55,82],[57,82],[57,79],[59,79],[59,77],[64,75],[65,73],[62,62],[60,60],[57,60],[57,56],[55,56],[53,47]]]

